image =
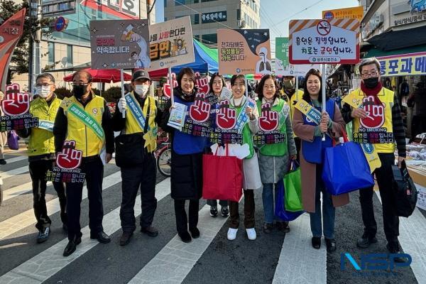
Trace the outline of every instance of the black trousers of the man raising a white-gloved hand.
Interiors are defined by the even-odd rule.
[[[123,231],[136,229],[136,218],[133,210],[141,188],[141,227],[151,226],[154,219],[157,200],[155,199],[156,168],[152,153],[145,153],[143,163],[129,168],[121,168],[122,201],[120,207],[121,228]]]

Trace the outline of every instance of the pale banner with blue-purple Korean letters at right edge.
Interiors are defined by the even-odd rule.
[[[426,52],[383,56],[377,59],[383,77],[426,75]]]

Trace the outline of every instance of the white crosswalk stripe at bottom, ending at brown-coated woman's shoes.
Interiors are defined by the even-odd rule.
[[[312,248],[311,238],[310,217],[305,213],[291,222],[291,231],[285,234],[273,284],[327,283],[327,251],[325,246]]]

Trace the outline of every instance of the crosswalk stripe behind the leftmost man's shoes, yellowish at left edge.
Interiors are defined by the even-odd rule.
[[[102,183],[102,190],[105,190],[117,183],[121,182],[121,172],[113,173],[104,178]],[[87,198],[87,186],[83,187],[82,200]],[[55,214],[60,212],[59,199],[55,198],[46,202],[46,207],[48,209],[48,214]],[[0,222],[0,240],[10,236],[11,234],[16,233],[17,231],[35,224],[34,212],[33,209],[29,209],[26,212],[15,215],[9,219]]]

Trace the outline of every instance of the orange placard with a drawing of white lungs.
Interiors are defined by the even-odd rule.
[[[268,29],[217,30],[220,74],[272,74]]]

